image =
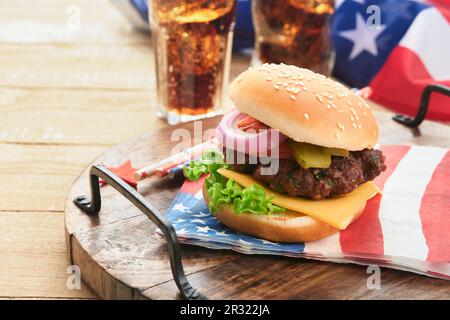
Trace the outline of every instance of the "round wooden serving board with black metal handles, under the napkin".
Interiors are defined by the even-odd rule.
[[[450,147],[450,127],[424,122],[405,128],[378,113],[381,143]],[[203,129],[219,119],[203,121]],[[150,132],[109,150],[93,164],[118,166],[131,159],[140,168],[167,157],[178,142],[175,128],[193,132],[193,124]],[[200,141],[196,141],[198,143]],[[102,188],[102,210],[88,216],[72,200],[89,194],[87,168],[74,182],[66,202],[66,243],[72,264],[104,299],[179,299],[165,242],[155,225],[109,186]],[[164,212],[181,181],[150,178],[138,191]],[[448,299],[450,282],[383,268],[381,289],[368,289],[366,268],[306,259],[243,255],[182,245],[188,280],[210,299]]]

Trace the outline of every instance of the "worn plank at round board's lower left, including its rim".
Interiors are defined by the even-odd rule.
[[[114,214],[114,209],[108,211]],[[154,230],[155,225],[143,214],[121,220],[120,225],[102,223],[98,228],[77,230],[69,236],[73,261],[83,270],[83,279],[103,299],[143,298],[142,290],[173,278],[166,245]],[[186,274],[239,259],[232,252],[217,256],[216,252],[203,248],[182,249],[183,261],[188,266]],[[115,254],[111,255],[112,252]]]

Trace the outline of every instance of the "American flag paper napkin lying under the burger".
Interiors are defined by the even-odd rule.
[[[274,243],[237,233],[216,220],[202,197],[203,181],[186,181],[167,216],[180,242],[244,254],[377,264],[450,280],[450,152],[383,145],[383,190],[346,230],[306,243]],[[332,214],[332,213],[331,213]]]

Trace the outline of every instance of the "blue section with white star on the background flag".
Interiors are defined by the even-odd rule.
[[[347,0],[336,3],[332,38],[333,75],[356,88],[367,86],[426,3],[404,0]]]

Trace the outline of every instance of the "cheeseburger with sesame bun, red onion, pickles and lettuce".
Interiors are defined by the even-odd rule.
[[[307,69],[263,64],[230,85],[206,152],[184,170],[206,177],[203,198],[235,231],[276,242],[306,242],[346,229],[379,193],[371,182],[385,158],[374,149],[370,106],[340,83]]]

